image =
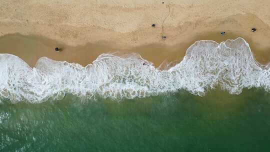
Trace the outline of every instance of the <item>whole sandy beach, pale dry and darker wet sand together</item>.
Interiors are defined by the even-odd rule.
[[[41,56],[86,65],[102,52],[128,51],[158,66],[180,60],[196,40],[243,37],[266,63],[269,25],[269,0],[0,0],[0,53],[34,66]]]

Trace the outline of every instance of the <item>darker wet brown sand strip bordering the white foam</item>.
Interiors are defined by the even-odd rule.
[[[23,59],[30,67],[34,67],[36,61],[43,56],[53,60],[67,61],[78,63],[82,66],[92,63],[97,56],[102,53],[117,52],[117,54],[137,53],[143,59],[154,64],[155,67],[165,65],[169,62],[180,62],[186,52],[186,49],[197,40],[214,40],[218,43],[227,39],[244,38],[255,59],[266,64],[270,61],[270,44],[269,47],[260,46],[257,41],[253,41],[249,37],[237,36],[231,33],[221,35],[216,32],[199,34],[196,38],[190,38],[188,42],[181,42],[175,45],[165,44],[147,44],[136,47],[116,48],[109,42],[87,43],[85,45],[70,46],[65,43],[48,39],[38,35],[21,35],[18,33],[7,34],[0,37],[0,53],[10,53]],[[206,39],[208,38],[208,39]],[[185,39],[186,40],[186,39]],[[15,42],[15,45],[14,45]],[[262,41],[263,42],[263,41]],[[59,47],[60,52],[55,52],[54,48]]]

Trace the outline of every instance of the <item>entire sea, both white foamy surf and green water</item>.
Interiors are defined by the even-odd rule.
[[[0,54],[0,151],[270,150],[270,69],[243,38],[196,41],[167,67]]]

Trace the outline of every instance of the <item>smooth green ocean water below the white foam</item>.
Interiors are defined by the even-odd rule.
[[[269,151],[270,93],[2,100],[0,151]]]

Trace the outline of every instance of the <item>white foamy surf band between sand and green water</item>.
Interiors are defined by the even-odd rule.
[[[40,103],[61,99],[65,93],[114,99],[146,97],[185,89],[203,96],[220,87],[231,94],[243,88],[270,88],[270,70],[258,63],[243,38],[220,44],[199,40],[183,60],[168,70],[159,70],[139,55],[101,54],[92,64],[38,59],[35,67],[15,55],[0,54],[0,97],[12,102]]]

